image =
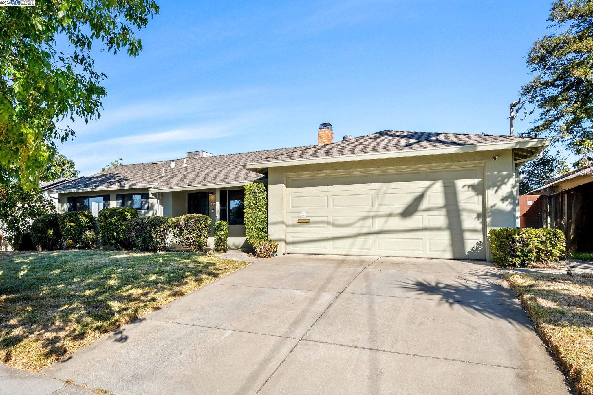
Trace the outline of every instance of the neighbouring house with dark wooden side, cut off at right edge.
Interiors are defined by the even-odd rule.
[[[570,251],[593,251],[593,167],[582,166],[527,193],[538,197],[543,227],[555,227],[566,235]]]

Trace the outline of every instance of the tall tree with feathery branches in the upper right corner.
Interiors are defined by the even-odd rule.
[[[540,109],[525,134],[552,137],[553,144],[582,156],[593,152],[593,1],[556,0],[548,21],[550,33],[535,41],[525,62],[537,77],[520,94],[528,99],[533,90]]]

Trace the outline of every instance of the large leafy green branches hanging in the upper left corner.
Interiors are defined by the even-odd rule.
[[[91,49],[137,56],[142,43],[136,33],[158,11],[153,0],[0,7],[0,184],[38,185],[56,155],[54,140],[75,136],[72,127],[56,123],[100,117],[106,75],[95,70]]]

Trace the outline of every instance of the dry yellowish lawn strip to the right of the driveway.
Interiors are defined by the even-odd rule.
[[[593,394],[593,273],[505,274],[576,393]]]

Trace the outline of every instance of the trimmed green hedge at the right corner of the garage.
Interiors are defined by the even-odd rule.
[[[559,229],[490,229],[492,259],[501,267],[553,262],[566,256],[566,237]]]

